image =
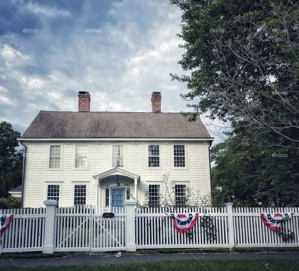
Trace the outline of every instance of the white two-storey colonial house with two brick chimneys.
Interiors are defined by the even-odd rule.
[[[78,112],[40,111],[24,134],[23,207],[81,204],[123,207],[130,194],[152,202],[169,173],[178,199],[185,187],[211,191],[209,150],[213,138],[202,121],[161,112],[153,92],[152,112],[90,112],[90,94],[78,94]],[[20,190],[20,188],[19,188]]]

